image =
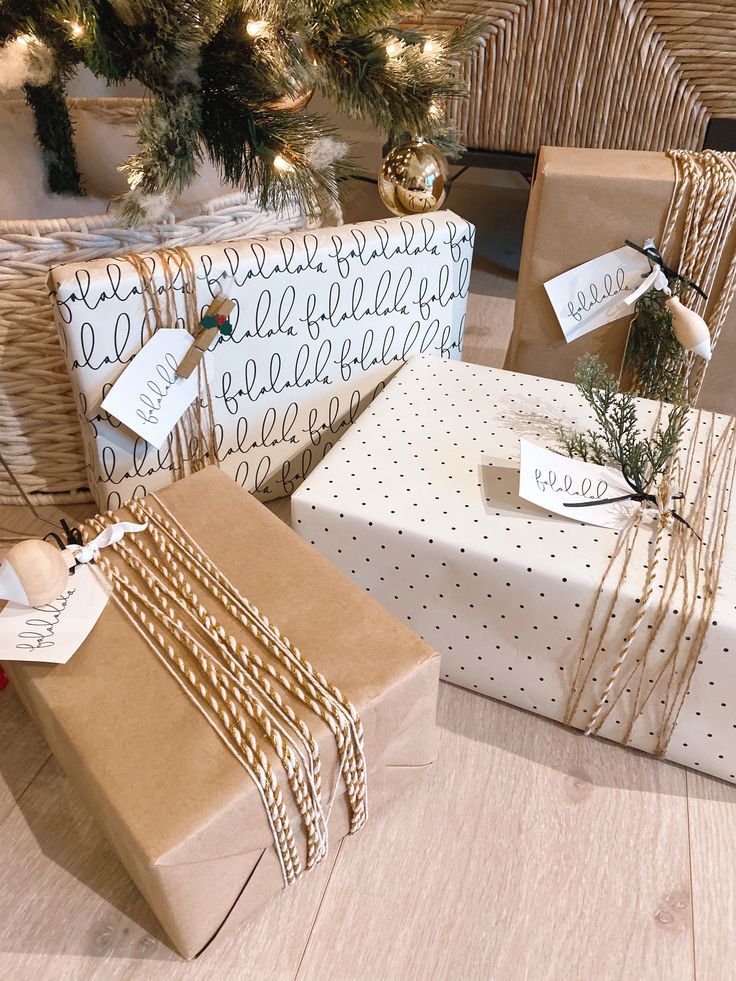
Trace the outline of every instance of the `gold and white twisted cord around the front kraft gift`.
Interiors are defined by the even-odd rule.
[[[347,790],[350,833],[367,819],[360,718],[352,703],[238,592],[163,502],[155,495],[151,500],[158,509],[148,501],[126,505],[134,518],[144,516],[145,535],[113,544],[118,562],[102,553],[97,568],[111,583],[126,618],[255,783],[283,882],[289,885],[327,855],[328,823],[340,776]],[[83,529],[85,538],[119,521],[112,512],[93,518]],[[129,572],[136,574],[141,586],[131,582]],[[218,609],[246,627],[264,654],[229,634]],[[326,803],[319,745],[295,705],[322,719],[335,738],[340,767]],[[286,776],[290,798],[274,772],[266,744]],[[304,864],[287,799],[295,805],[304,828]]]

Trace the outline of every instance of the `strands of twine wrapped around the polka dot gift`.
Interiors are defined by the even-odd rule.
[[[683,461],[680,455],[673,462],[671,472],[660,488],[657,529],[650,541],[638,608],[631,617],[613,659],[613,666],[595,698],[593,711],[584,726],[580,725],[580,728],[584,727],[586,735],[600,732],[624,695],[632,694],[630,704],[624,709],[626,717],[622,735],[620,738],[617,736],[617,741],[628,745],[636,722],[652,702],[653,695],[658,693],[663,697],[660,698],[661,708],[657,709],[658,719],[652,730],[653,752],[657,756],[664,755],[667,750],[700,659],[712,621],[723,565],[729,507],[736,479],[736,419],[729,418],[723,432],[716,436],[717,419],[712,415],[706,418],[698,411],[685,459]],[[708,429],[702,440],[703,466],[702,471],[695,475],[696,447],[704,425]],[[667,507],[670,486],[682,487],[688,497],[688,489],[697,487],[687,515],[690,528],[670,520],[671,512]],[[590,697],[596,669],[610,663],[606,650],[613,622],[629,614],[628,603],[625,610],[619,609],[620,600],[631,575],[631,559],[644,528],[643,518],[644,510],[640,509],[619,533],[593,599],[565,709],[564,721],[567,725],[574,724],[582,704]],[[646,533],[649,534],[649,531]],[[621,556],[623,562],[613,579],[612,596],[603,609],[604,594],[611,585],[614,568]],[[663,566],[666,571],[662,577]],[[658,583],[660,578],[662,582]],[[657,585],[661,585],[659,599],[653,604]],[[678,604],[676,609],[673,606],[675,601]],[[647,630],[643,632],[648,614],[651,622],[646,623]],[[655,649],[663,630],[669,632],[666,638],[662,638],[662,650],[657,654]],[[635,663],[624,677],[622,669],[631,662],[632,654]],[[585,709],[583,712],[587,715]]]

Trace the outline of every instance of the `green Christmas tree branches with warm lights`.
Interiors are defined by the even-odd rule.
[[[478,25],[428,37],[395,23],[416,10],[416,0],[0,0],[0,77],[24,87],[55,193],[83,193],[65,89],[86,65],[148,94],[123,165],[129,221],[177,197],[207,157],[264,207],[314,213],[349,172],[348,148],[306,109],[315,90],[385,134],[458,151],[444,107],[463,93],[458,68]]]

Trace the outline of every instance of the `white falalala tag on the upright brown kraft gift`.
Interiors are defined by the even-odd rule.
[[[650,273],[649,260],[628,245],[584,262],[544,284],[565,340],[631,316],[627,298]]]

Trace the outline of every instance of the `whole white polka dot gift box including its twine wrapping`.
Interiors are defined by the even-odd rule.
[[[659,408],[637,401],[642,430]],[[569,483],[561,513],[519,496],[520,440],[559,453],[560,426],[591,423],[575,385],[414,358],[297,492],[294,527],[447,681],[736,782],[736,420],[692,410],[674,503],[626,501],[610,527],[567,516]]]

